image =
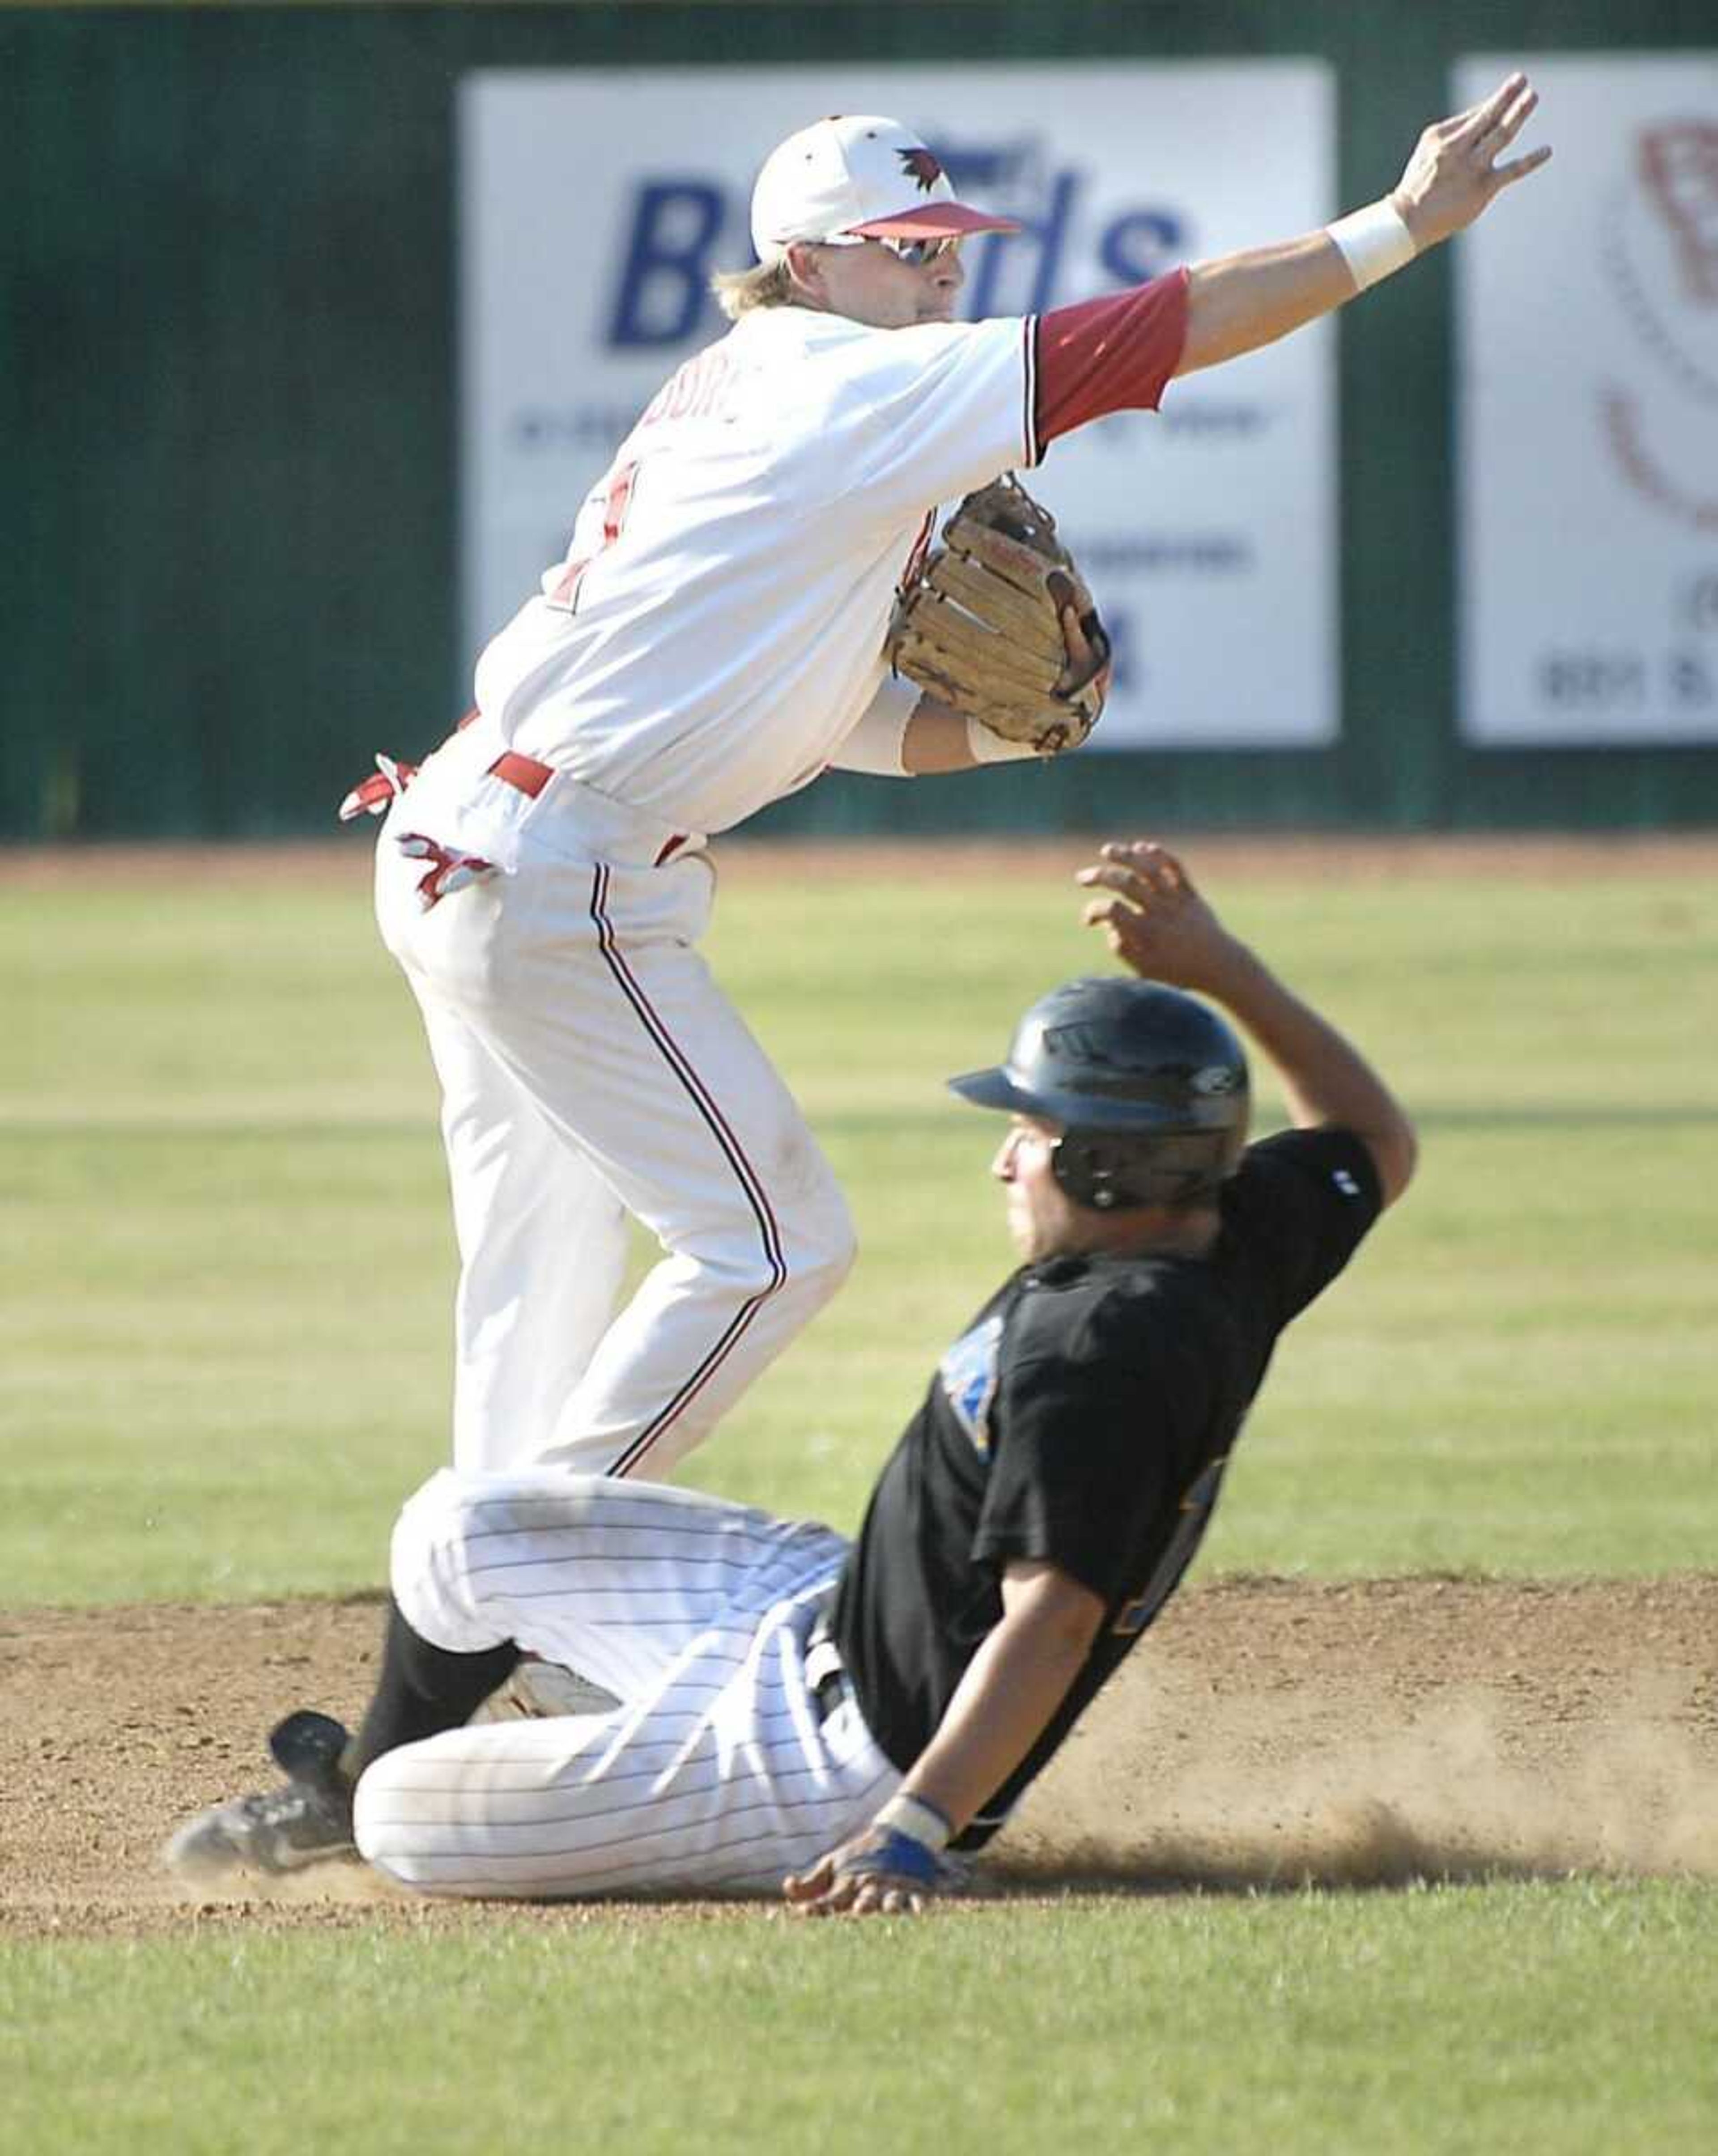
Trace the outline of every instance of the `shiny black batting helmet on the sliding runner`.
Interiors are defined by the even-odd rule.
[[[1162,981],[1063,981],[1015,1026],[1009,1061],[951,1089],[1058,1125],[1052,1173],[1078,1205],[1196,1205],[1246,1145],[1246,1050]]]

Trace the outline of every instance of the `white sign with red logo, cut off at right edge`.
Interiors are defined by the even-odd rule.
[[[1526,67],[1552,162],[1457,241],[1461,731],[1718,740],[1718,52]]]

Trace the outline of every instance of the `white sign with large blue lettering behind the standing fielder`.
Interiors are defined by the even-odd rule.
[[[483,71],[459,101],[466,638],[558,558],[610,451],[722,334],[767,151],[888,112],[972,201],[964,313],[1041,313],[1332,213],[1319,63]],[[1052,446],[1030,485],[1117,636],[1097,742],[1334,737],[1334,347],[1326,326]]]

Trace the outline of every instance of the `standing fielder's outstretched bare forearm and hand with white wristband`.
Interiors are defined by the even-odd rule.
[[[1500,162],[1537,103],[1526,75],[1509,75],[1483,103],[1427,127],[1382,201],[1302,239],[1199,263],[1175,373],[1257,351],[1464,231],[1550,157],[1550,149],[1535,149]]]

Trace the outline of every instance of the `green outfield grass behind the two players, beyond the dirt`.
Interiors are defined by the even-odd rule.
[[[690,1479],[849,1524],[1009,1261],[996,1123],[942,1078],[1104,953],[1061,877],[729,886],[711,957],[862,1257]],[[1375,1054],[1425,1160],[1280,1358],[1205,1563],[1712,1563],[1718,895],[1278,873],[1218,897]],[[0,908],[4,1600],[375,1583],[446,1447],[453,1238],[358,880]]]

